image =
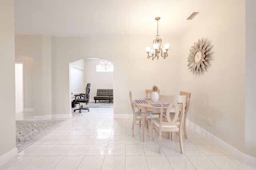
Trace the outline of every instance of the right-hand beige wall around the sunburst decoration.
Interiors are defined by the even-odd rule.
[[[216,9],[214,14],[198,14],[181,37],[179,90],[192,92],[190,121],[244,152],[245,1],[225,0],[212,8]],[[202,37],[212,45],[210,66],[202,74],[193,75],[187,70],[187,57],[191,46]]]

